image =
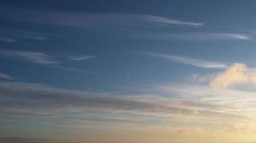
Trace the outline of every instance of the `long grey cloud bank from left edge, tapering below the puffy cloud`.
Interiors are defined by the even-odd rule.
[[[201,118],[207,115],[216,119],[233,117],[231,114],[214,111],[215,107],[209,104],[167,97],[91,93],[24,83],[1,83],[0,103],[0,116],[11,119],[88,119],[83,115],[90,111],[129,116],[134,114],[138,119],[145,119],[145,116]],[[66,112],[69,114],[65,114]]]

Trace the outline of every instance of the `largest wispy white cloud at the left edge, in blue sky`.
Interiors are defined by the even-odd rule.
[[[42,52],[6,50],[6,51],[0,51],[0,55],[27,59],[28,61],[33,61],[39,64],[58,64],[59,63],[58,61],[53,59],[51,56],[48,56]]]

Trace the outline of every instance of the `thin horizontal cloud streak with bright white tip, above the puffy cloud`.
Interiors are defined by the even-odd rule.
[[[147,34],[144,37],[151,39],[171,39],[182,41],[209,41],[209,40],[251,40],[248,34],[236,33],[178,33],[178,34]]]

